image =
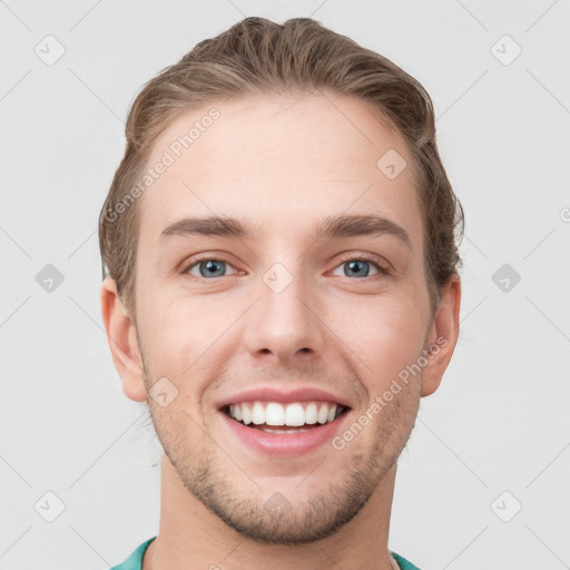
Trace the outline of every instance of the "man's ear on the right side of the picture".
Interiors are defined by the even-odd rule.
[[[455,350],[459,337],[459,313],[461,306],[461,279],[452,275],[441,288],[441,302],[435,309],[428,333],[428,364],[422,371],[422,396],[433,394],[441,384],[443,373]]]

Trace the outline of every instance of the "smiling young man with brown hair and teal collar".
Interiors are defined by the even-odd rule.
[[[428,94],[309,19],[145,86],[100,218],[102,316],[165,455],[117,569],[414,569],[397,458],[459,334],[462,209]]]

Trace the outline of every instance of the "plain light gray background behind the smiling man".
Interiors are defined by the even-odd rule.
[[[158,530],[159,448],[102,332],[97,218],[142,83],[245,16],[313,16],[415,76],[465,208],[461,337],[400,460],[390,548],[422,570],[569,568],[570,6],[552,0],[0,1],[0,568],[108,568]]]

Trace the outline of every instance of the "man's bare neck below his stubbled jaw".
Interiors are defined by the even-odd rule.
[[[142,570],[391,570],[387,538],[395,472],[394,464],[358,514],[334,535],[309,544],[261,544],[206,509],[164,455],[159,533],[147,549]]]

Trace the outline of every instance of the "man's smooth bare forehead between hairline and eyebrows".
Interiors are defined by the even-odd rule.
[[[240,97],[185,111],[156,140],[148,167],[161,174],[141,199],[141,238],[186,216],[227,215],[291,236],[346,213],[389,217],[421,240],[409,149],[353,98]]]

